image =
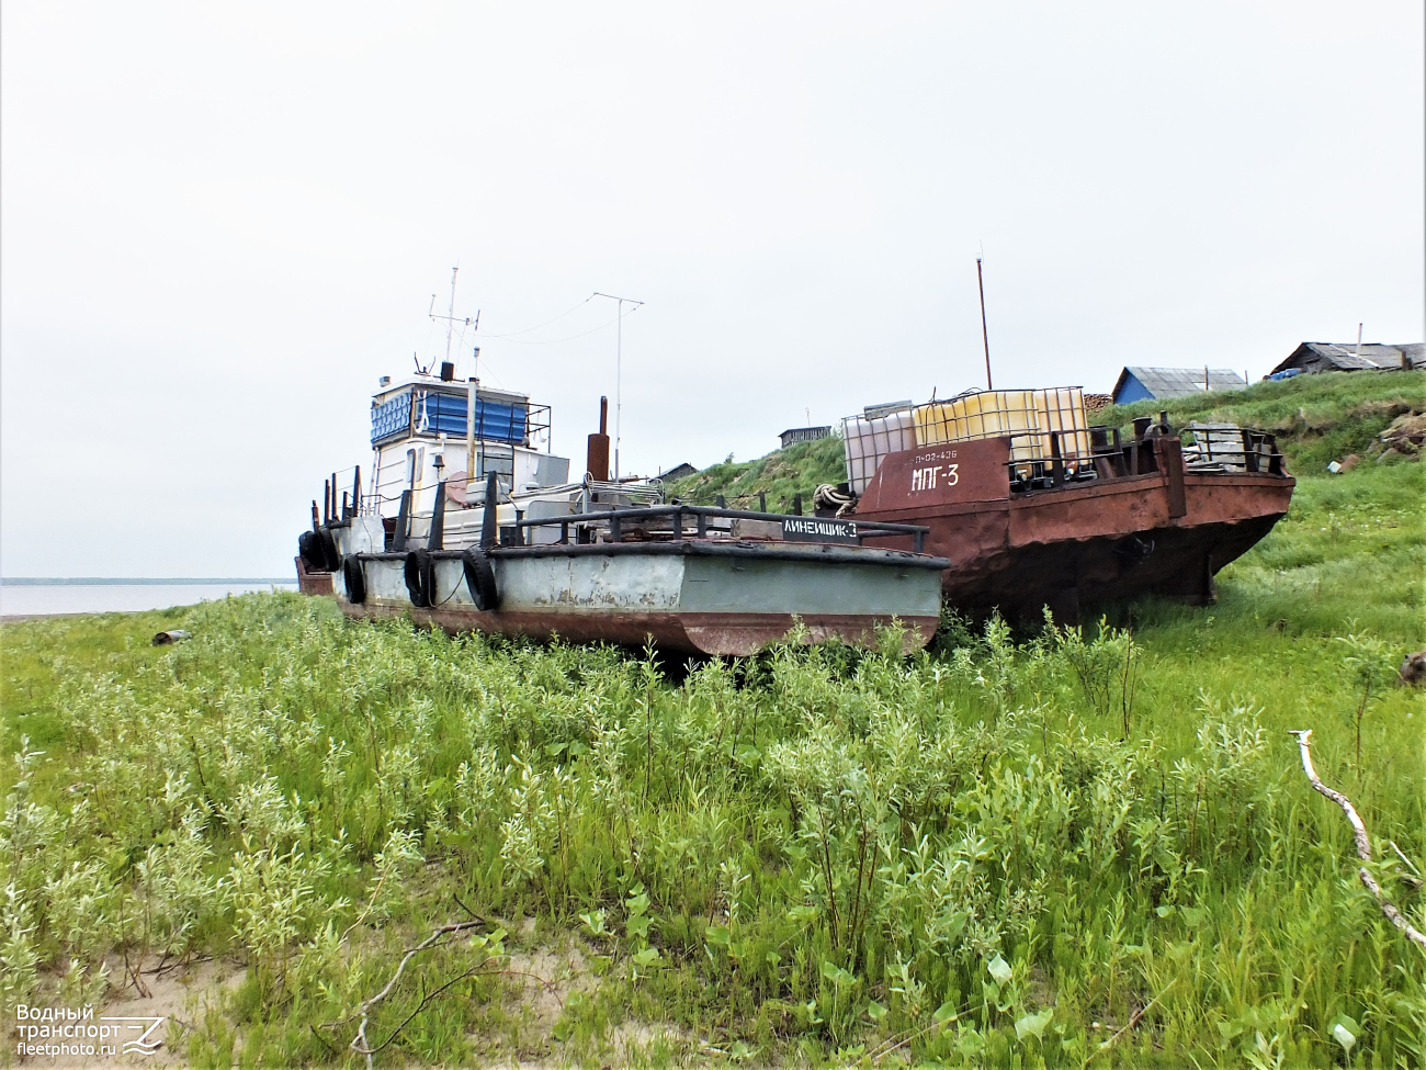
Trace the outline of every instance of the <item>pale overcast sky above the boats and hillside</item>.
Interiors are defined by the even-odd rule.
[[[646,301],[640,472],[983,385],[983,250],[997,387],[1422,340],[1415,0],[6,0],[0,33],[7,576],[291,572],[456,263],[463,360],[576,469],[596,290]]]

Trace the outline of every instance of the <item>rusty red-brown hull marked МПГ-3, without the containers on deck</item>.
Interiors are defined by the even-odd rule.
[[[951,605],[1074,619],[1081,602],[1148,593],[1212,602],[1216,572],[1272,531],[1295,486],[1281,465],[1199,472],[1176,441],[1147,441],[1142,474],[1012,492],[1008,457],[1007,439],[891,454],[856,515],[930,526]]]

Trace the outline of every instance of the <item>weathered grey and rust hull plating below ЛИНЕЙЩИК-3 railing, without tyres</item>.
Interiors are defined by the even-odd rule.
[[[449,632],[483,631],[570,642],[657,646],[687,653],[754,653],[800,622],[806,642],[870,646],[877,628],[904,629],[907,653],[925,646],[940,621],[944,562],[884,549],[709,544],[539,546],[491,555],[498,611],[475,606],[456,554],[438,555],[435,595],[415,608],[404,558],[358,555],[366,598],[355,605],[341,572],[334,588],[349,616],[408,615]]]

